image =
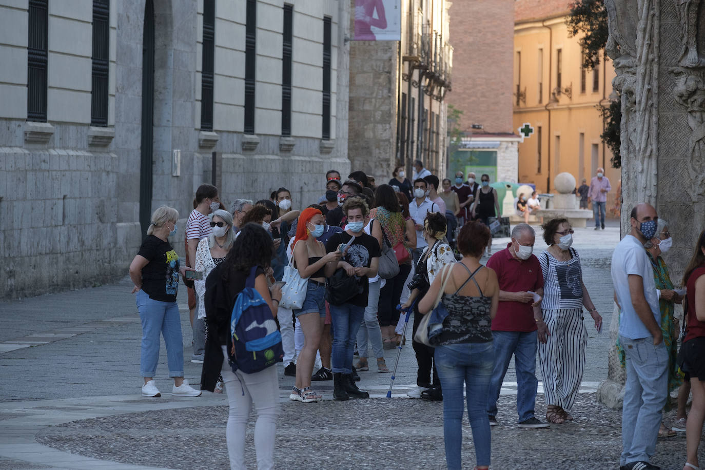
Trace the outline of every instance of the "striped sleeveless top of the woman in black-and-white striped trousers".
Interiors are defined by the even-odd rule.
[[[582,269],[580,256],[570,248],[571,258],[559,261],[546,250],[539,254],[541,271],[544,273],[544,299],[542,310],[582,308]]]

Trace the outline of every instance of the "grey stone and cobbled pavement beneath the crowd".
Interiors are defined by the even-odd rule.
[[[539,230],[540,231],[540,230]],[[606,230],[575,230],[584,282],[611,321],[613,290],[609,261],[619,239],[615,221]],[[495,239],[494,250],[508,239]],[[545,248],[537,237],[535,252]],[[140,397],[140,321],[130,282],[0,302],[0,469],[198,469],[225,468],[226,397],[161,399]],[[200,364],[190,359],[190,325],[185,290],[178,296],[185,345],[185,375],[200,381]],[[493,429],[493,468],[616,468],[620,414],[594,400],[607,376],[609,337],[586,319],[587,364],[575,423],[548,430],[520,430],[515,421],[515,375],[510,366],[500,398],[502,425]],[[407,332],[410,336],[410,331]],[[164,343],[162,342],[162,345]],[[385,351],[393,366],[397,351]],[[330,400],[331,382],[319,382],[323,402],[309,406],[286,400],[292,377],[278,365],[283,414],[278,422],[278,468],[441,468],[440,403],[408,400],[416,363],[403,347],[392,400],[384,399],[390,375],[361,372],[371,400]],[[162,348],[157,385],[168,391]],[[541,377],[539,376],[539,381]],[[539,384],[537,416],[545,413]],[[248,464],[254,465],[252,426]],[[464,433],[465,462],[472,468],[472,436]],[[204,454],[204,448],[207,453]],[[520,452],[517,452],[520,450]],[[70,453],[71,452],[71,453]],[[654,462],[682,468],[685,438],[659,441]],[[118,463],[122,462],[122,463]]]

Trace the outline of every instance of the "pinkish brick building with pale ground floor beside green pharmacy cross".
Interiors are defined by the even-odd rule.
[[[449,156],[456,171],[488,173],[493,181],[517,183],[517,143],[512,121],[513,0],[454,1],[453,93],[448,103],[462,111],[455,126],[464,137]]]

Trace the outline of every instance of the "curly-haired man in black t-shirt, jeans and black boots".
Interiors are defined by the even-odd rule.
[[[348,228],[342,233],[334,233],[326,242],[326,252],[341,252],[350,242],[342,258],[326,263],[326,277],[330,278],[338,269],[346,276],[355,276],[359,285],[357,294],[341,304],[331,305],[333,319],[333,399],[369,398],[369,393],[357,388],[353,381],[353,351],[357,330],[364,319],[364,309],[369,299],[368,278],[377,275],[379,266],[379,242],[364,233],[364,218],[369,214],[367,203],[360,197],[345,200],[343,212],[348,220]]]

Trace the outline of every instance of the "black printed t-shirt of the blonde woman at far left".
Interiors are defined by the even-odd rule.
[[[176,302],[178,292],[178,254],[168,242],[148,235],[137,252],[149,261],[142,268],[142,290],[150,299]]]

